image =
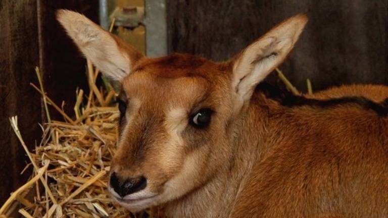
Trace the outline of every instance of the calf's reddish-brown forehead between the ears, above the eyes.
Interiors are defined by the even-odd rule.
[[[122,82],[128,98],[137,98],[142,104],[190,106],[204,100],[219,73],[217,64],[190,55],[142,60]]]

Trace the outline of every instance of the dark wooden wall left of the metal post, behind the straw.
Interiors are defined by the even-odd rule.
[[[40,141],[38,123],[45,120],[34,68],[39,66],[49,96],[72,113],[75,88],[86,87],[85,61],[55,20],[55,10],[68,8],[98,21],[93,0],[0,1],[0,205],[29,174],[20,176],[26,156],[8,118],[17,115],[22,135],[32,149]],[[54,111],[53,117],[59,117]]]

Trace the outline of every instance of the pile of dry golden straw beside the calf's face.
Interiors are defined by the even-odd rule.
[[[17,117],[10,119],[33,167],[32,179],[15,191],[0,209],[8,217],[18,205],[25,217],[131,217],[107,192],[110,162],[118,139],[119,112],[114,102],[116,93],[105,83],[95,84],[99,71],[87,64],[90,92],[76,91],[74,119],[44,93],[40,74],[36,69],[46,108],[47,124],[42,138],[33,152],[28,151],[17,125]],[[47,104],[60,112],[65,121],[52,121]],[[32,198],[28,195],[32,194]],[[29,194],[30,193],[30,194]],[[151,217],[159,216],[151,213]],[[137,217],[142,214],[137,214]]]

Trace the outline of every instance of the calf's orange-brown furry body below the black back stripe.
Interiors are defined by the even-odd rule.
[[[366,87],[385,90],[377,101],[388,97],[387,87],[357,87],[360,92]],[[335,97],[357,92],[347,92],[346,86],[340,90],[342,94],[336,92]],[[387,117],[351,103],[327,109],[289,108],[258,95],[254,101],[261,103],[251,106],[248,120],[254,121],[262,137],[257,142],[259,154],[233,217],[388,215],[384,206],[388,202]]]

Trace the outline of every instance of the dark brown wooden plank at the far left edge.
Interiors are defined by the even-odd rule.
[[[30,88],[37,83],[34,67],[39,64],[36,1],[0,3],[0,205],[26,179],[20,176],[26,156],[8,118],[17,115],[29,146],[39,140],[40,97]]]

